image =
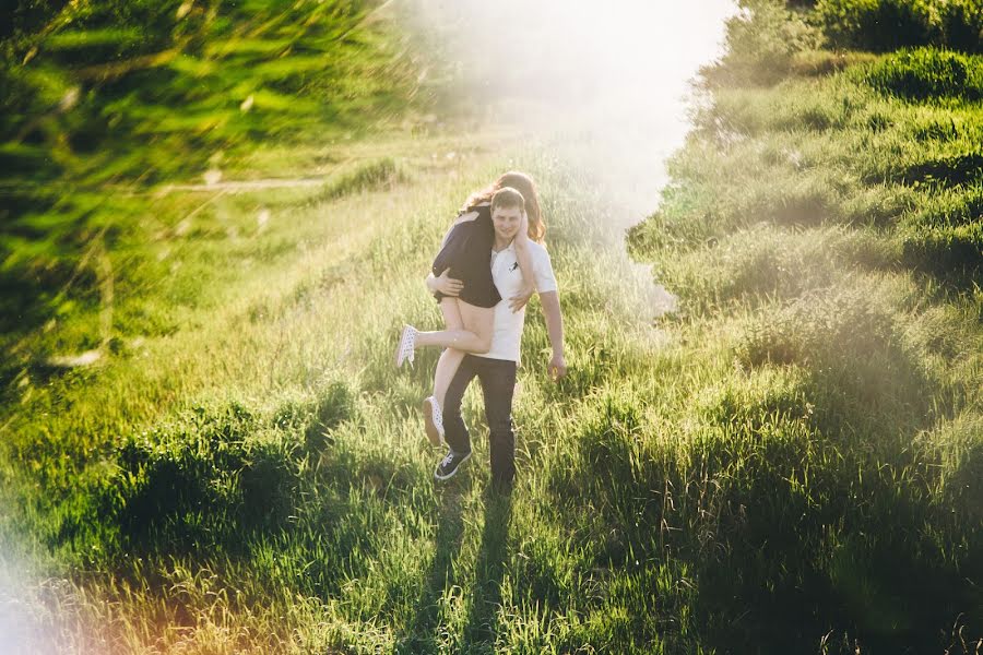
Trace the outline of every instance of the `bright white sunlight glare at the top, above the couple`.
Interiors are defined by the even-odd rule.
[[[453,59],[470,98],[595,175],[618,227],[658,206],[664,160],[689,129],[690,82],[721,56],[736,12],[731,0],[416,1],[416,28]]]

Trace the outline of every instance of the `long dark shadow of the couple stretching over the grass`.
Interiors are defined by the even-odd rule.
[[[416,612],[403,631],[398,653],[437,653],[440,599],[448,590],[462,587],[470,593],[467,619],[464,626],[463,648],[490,651],[498,632],[498,609],[501,606],[501,582],[508,559],[509,524],[512,517],[510,491],[489,486],[484,492],[485,524],[482,544],[474,567],[473,584],[455,580],[454,560],[464,536],[463,503],[470,484],[449,485],[438,491],[440,501],[437,538],[429,574],[423,580]],[[481,646],[486,646],[482,648]]]

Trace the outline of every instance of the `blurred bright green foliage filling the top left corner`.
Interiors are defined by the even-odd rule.
[[[16,2],[0,49],[2,343],[68,301],[92,308],[93,252],[154,238],[127,193],[412,116],[415,64],[394,57],[391,23],[367,20],[377,4]],[[365,174],[346,183],[402,175]]]

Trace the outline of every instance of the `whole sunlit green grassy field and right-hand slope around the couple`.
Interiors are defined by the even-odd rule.
[[[793,4],[732,20],[624,238],[557,143],[389,96],[323,139],[236,132],[214,156],[176,128],[118,178],[37,172],[92,207],[15,194],[0,234],[0,652],[979,653],[975,5]],[[371,9],[325,7],[311,25]],[[874,43],[898,7],[907,40]],[[126,19],[84,43],[131,43]],[[210,29],[267,52],[242,20]],[[174,170],[178,142],[189,169],[281,186],[180,187],[200,175]],[[167,166],[141,180],[146,162]],[[498,495],[479,392],[476,456],[437,485],[436,353],[398,371],[392,350],[439,324],[436,246],[508,168],[540,183],[570,371],[547,379],[534,300]]]

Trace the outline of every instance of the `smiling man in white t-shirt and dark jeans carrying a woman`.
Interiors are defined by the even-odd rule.
[[[492,479],[497,487],[509,487],[516,475],[516,436],[512,430],[512,394],[516,389],[516,369],[519,365],[519,346],[525,324],[525,301],[522,296],[522,272],[516,259],[513,239],[522,224],[524,200],[512,188],[496,192],[492,201],[492,224],[495,241],[492,247],[492,276],[501,300],[495,306],[495,324],[492,347],[481,355],[464,356],[447,391],[443,408],[445,440],[449,451],[437,465],[434,476],[438,480],[451,478],[471,457],[471,438],[461,417],[461,400],[474,378],[482,384],[485,397],[485,416],[488,420]],[[558,380],[567,373],[564,358],[564,321],[560,313],[556,277],[546,249],[529,241],[533,264],[535,290],[540,295],[546,331],[553,346],[548,374]],[[509,306],[518,299],[518,311]]]

